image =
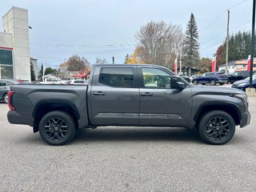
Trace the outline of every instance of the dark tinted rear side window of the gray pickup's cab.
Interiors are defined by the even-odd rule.
[[[131,67],[102,67],[98,82],[106,86],[134,87],[134,69]]]

